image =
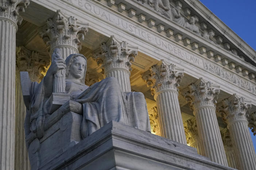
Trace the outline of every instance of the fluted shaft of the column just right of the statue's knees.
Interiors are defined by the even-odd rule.
[[[156,94],[161,136],[187,145],[183,127],[178,92],[164,90]]]

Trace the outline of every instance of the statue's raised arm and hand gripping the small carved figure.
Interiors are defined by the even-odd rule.
[[[53,93],[53,74],[59,69],[65,69],[66,64],[62,58],[57,58],[51,63],[45,77],[44,77],[44,96],[49,97]]]

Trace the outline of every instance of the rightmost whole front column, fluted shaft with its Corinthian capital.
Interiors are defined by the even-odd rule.
[[[224,118],[234,145],[235,159],[238,169],[256,169],[256,155],[248,129],[247,113],[251,105],[246,104],[243,97],[233,94],[222,101]]]

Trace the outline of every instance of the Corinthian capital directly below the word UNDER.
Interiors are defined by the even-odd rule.
[[[155,95],[162,90],[179,90],[179,83],[184,76],[183,70],[175,68],[174,64],[166,64],[161,60],[142,74],[142,78],[151,87],[151,94]]]

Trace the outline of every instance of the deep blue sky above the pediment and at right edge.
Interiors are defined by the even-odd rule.
[[[256,50],[256,0],[200,1]],[[252,133],[251,136],[254,148],[256,148],[256,136]]]

